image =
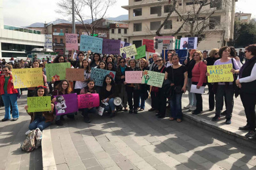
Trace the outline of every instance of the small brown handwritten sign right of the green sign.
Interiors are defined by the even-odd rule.
[[[66,79],[69,81],[84,81],[84,69],[66,69]]]

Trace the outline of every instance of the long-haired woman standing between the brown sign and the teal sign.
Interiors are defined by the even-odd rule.
[[[82,66],[79,67],[80,69],[84,69],[84,81],[76,81],[74,92],[76,94],[80,94],[81,88],[87,86],[87,82],[90,79],[90,65],[87,59],[82,60]]]

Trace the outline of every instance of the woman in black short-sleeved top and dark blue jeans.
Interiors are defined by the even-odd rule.
[[[172,88],[171,99],[170,100],[170,121],[177,120],[177,122],[182,121],[182,111],[181,111],[181,97],[186,91],[186,86],[188,82],[188,72],[184,65],[179,63],[179,57],[177,55],[172,56],[172,66],[166,69],[166,75],[164,79],[170,80],[170,86]]]

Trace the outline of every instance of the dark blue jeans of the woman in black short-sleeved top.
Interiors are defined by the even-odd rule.
[[[170,100],[170,108],[171,108],[170,117],[182,118],[181,96],[182,94],[174,94],[174,96],[172,96],[172,99]]]

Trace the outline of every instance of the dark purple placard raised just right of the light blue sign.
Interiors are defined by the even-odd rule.
[[[103,39],[102,54],[120,54],[121,40]]]

